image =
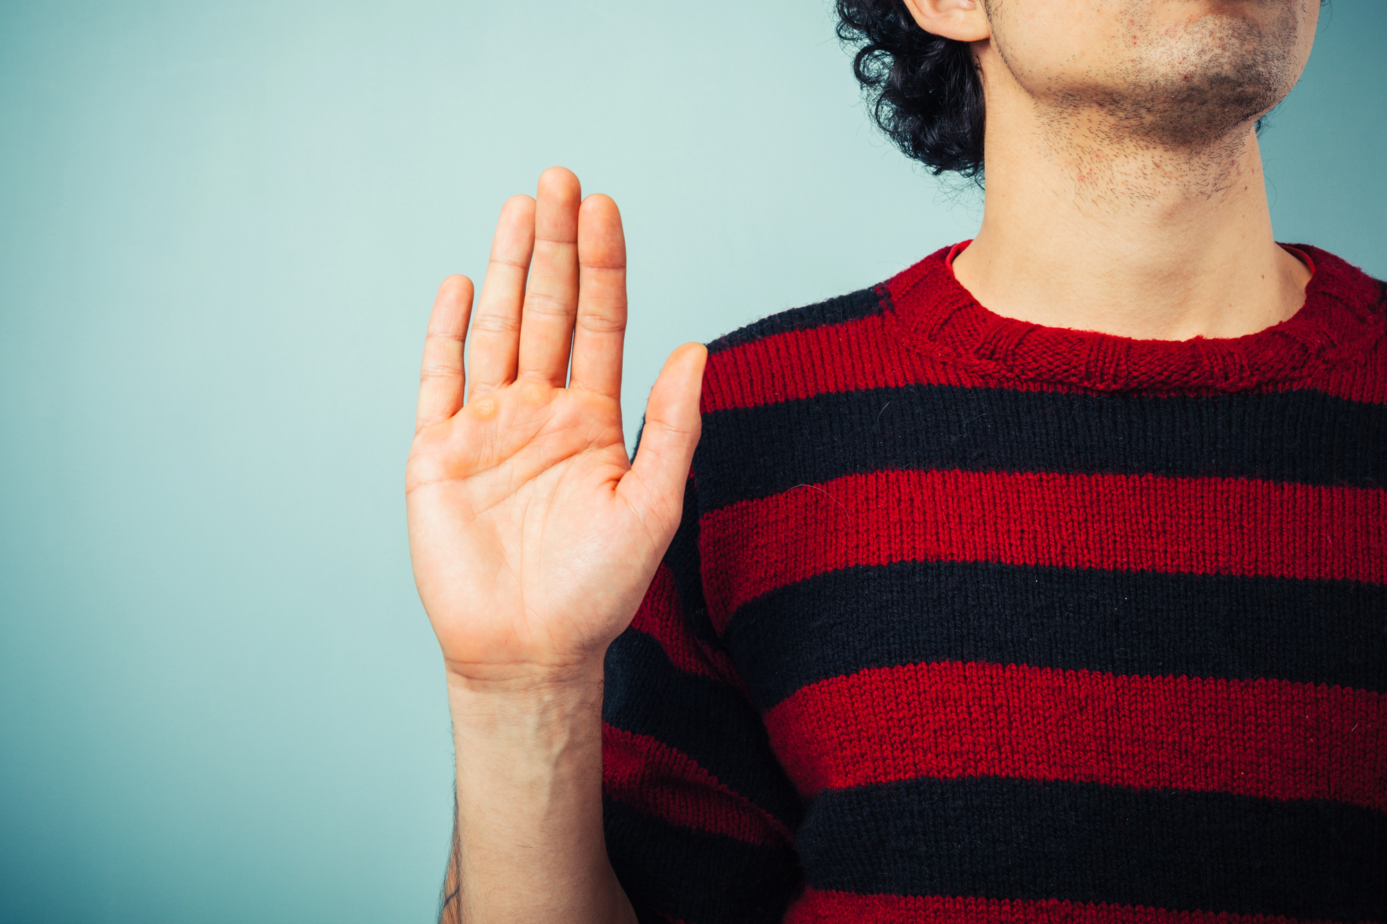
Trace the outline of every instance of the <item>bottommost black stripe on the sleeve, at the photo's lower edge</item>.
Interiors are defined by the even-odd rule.
[[[603,802],[608,856],[644,921],[659,912],[688,924],[778,923],[799,888],[789,845],[745,844],[680,828]]]

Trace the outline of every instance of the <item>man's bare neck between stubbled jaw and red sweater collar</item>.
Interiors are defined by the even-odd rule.
[[[985,307],[1140,340],[1240,337],[1300,309],[1309,271],[1272,239],[1250,125],[1169,150],[992,89],[982,229],[954,261]]]

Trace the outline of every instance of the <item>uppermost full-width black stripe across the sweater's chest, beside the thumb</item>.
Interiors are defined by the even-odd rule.
[[[1319,391],[1090,395],[913,386],[703,416],[705,511],[882,469],[1387,486],[1387,405]]]

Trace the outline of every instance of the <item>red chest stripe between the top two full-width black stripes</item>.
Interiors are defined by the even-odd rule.
[[[1004,562],[1387,583],[1387,491],[1151,474],[872,472],[703,516],[709,612],[854,565]]]

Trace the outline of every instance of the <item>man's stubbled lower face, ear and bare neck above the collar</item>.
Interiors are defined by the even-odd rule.
[[[1309,57],[1315,0],[906,0],[971,43],[988,107],[982,229],[954,275],[993,312],[1122,337],[1286,320],[1254,126]]]

